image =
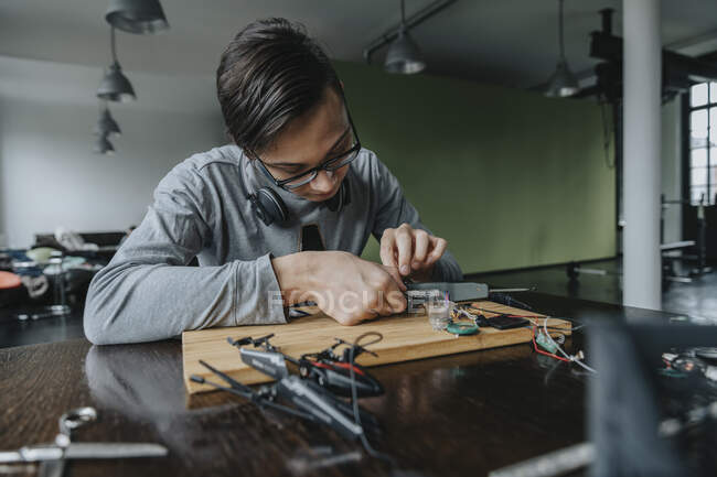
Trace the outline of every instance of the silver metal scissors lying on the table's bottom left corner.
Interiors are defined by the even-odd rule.
[[[60,418],[60,433],[52,444],[0,451],[0,464],[40,462],[40,476],[61,476],[66,459],[162,457],[167,447],[154,443],[72,442],[72,431],[97,419],[94,408],[78,408]]]

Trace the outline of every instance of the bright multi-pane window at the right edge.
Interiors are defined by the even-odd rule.
[[[717,83],[689,90],[689,200],[715,204],[717,195]]]

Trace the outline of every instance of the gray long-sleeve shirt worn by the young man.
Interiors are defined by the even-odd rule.
[[[186,329],[286,323],[270,258],[300,251],[304,225],[318,225],[327,250],[354,254],[370,234],[381,239],[403,223],[429,231],[372,151],[361,150],[344,181],[351,204],[341,213],[275,187],[290,217],[267,227],[246,196],[271,184],[238,147],[189,158],[159,183],[141,225],[93,279],[85,335],[94,344],[136,343]],[[200,267],[188,267],[194,257]],[[448,251],[432,279],[462,279]]]

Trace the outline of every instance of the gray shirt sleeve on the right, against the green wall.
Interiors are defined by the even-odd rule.
[[[373,154],[372,154],[373,155]],[[372,230],[373,236],[381,242],[381,237],[387,228],[396,228],[406,223],[415,229],[424,229],[434,235],[426,227],[418,216],[416,207],[406,199],[404,192],[394,174],[382,163],[378,158],[373,155],[373,181],[376,184],[376,221]],[[437,282],[458,282],[463,280],[458,261],[453,254],[446,250],[442,257],[436,262],[431,281]]]

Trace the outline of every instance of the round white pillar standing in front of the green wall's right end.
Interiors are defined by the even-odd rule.
[[[623,297],[660,310],[662,42],[660,0],[624,0]]]

